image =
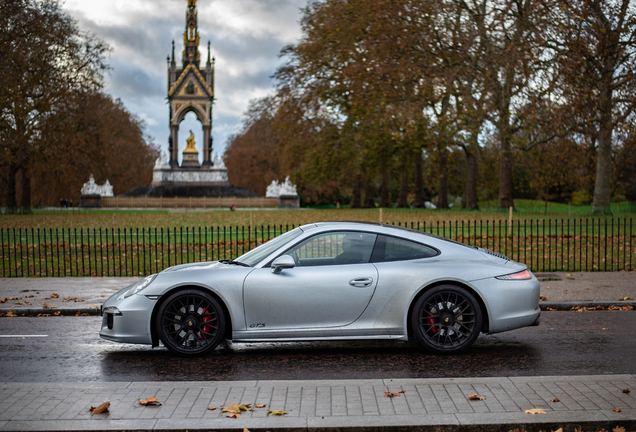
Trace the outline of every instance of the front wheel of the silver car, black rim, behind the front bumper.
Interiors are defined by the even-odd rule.
[[[186,289],[171,294],[161,304],[156,325],[159,338],[170,351],[201,355],[221,342],[225,314],[210,294]]]

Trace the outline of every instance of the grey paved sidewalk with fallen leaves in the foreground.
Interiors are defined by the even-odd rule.
[[[630,393],[623,393],[624,389]],[[385,391],[399,392],[386,397]],[[477,394],[484,400],[469,400]],[[155,396],[161,406],[140,406]],[[558,402],[553,400],[558,399]],[[107,413],[89,408],[110,402]],[[228,418],[223,407],[251,404]],[[265,408],[255,408],[265,404]],[[209,410],[208,407],[216,407]],[[620,412],[615,412],[620,409]],[[525,410],[542,409],[545,414]],[[268,416],[284,410],[284,416]],[[0,430],[636,430],[636,375],[350,381],[3,383]]]

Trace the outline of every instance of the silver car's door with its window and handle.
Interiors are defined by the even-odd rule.
[[[324,328],[354,322],[377,285],[377,269],[369,263],[375,239],[369,233],[318,234],[285,253],[294,258],[294,268],[280,274],[270,268],[252,271],[243,286],[247,328]]]

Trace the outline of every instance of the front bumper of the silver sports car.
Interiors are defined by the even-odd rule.
[[[99,336],[114,342],[152,344],[151,317],[157,300],[140,294],[121,298],[122,292],[125,290],[116,293],[102,305]]]

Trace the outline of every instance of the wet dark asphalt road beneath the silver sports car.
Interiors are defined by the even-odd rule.
[[[0,318],[0,381],[215,381],[636,372],[636,313],[544,312],[539,327],[481,335],[465,354],[392,341],[232,344],[202,358],[102,340],[100,317]]]

